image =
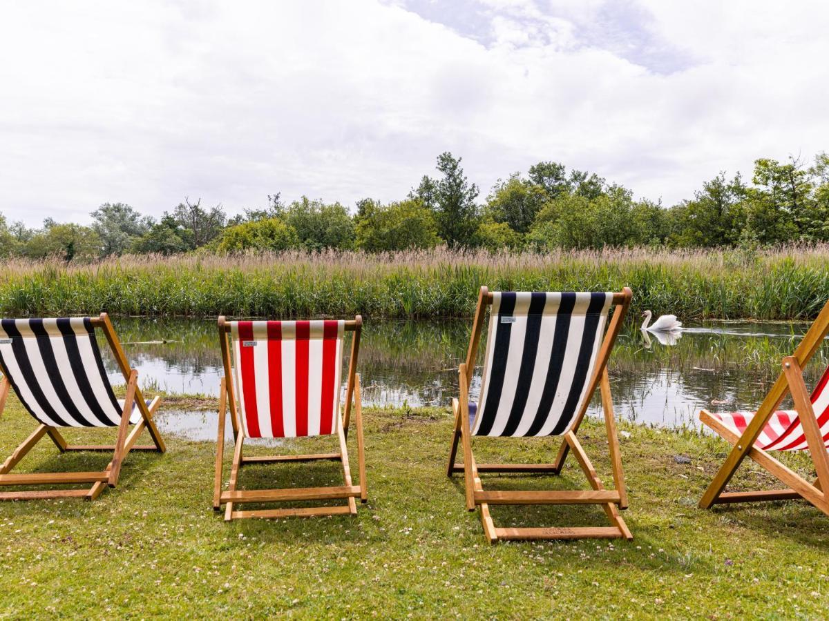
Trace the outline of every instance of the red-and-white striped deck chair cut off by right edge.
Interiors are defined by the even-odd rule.
[[[810,395],[803,381],[802,367],[817,352],[829,333],[829,302],[803,336],[794,354],[783,359],[783,370],[760,404],[757,412],[719,414],[702,410],[700,420],[733,446],[725,463],[700,500],[701,508],[718,503],[803,498],[829,515],[829,368]],[[793,410],[778,411],[780,402],[791,393]],[[813,482],[788,469],[770,451],[808,450],[817,479]],[[734,472],[748,456],[772,474],[786,489],[725,492]]]

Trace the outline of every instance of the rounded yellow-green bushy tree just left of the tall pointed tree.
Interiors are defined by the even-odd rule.
[[[387,206],[360,201],[356,238],[359,248],[370,252],[434,248],[440,243],[434,215],[416,199]]]

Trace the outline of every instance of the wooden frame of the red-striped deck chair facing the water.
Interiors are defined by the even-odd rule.
[[[318,453],[313,455],[268,455],[245,457],[243,446],[245,434],[242,433],[239,407],[236,402],[235,387],[230,364],[230,325],[224,316],[219,317],[219,339],[221,342],[221,359],[225,369],[225,377],[221,379],[219,397],[219,425],[216,437],[216,477],[213,486],[213,509],[221,511],[225,504],[225,522],[244,517],[279,518],[279,517],[317,517],[327,515],[356,515],[355,498],[361,503],[368,502],[366,489],[366,455],[363,442],[362,405],[360,397],[360,375],[356,373],[357,357],[360,353],[360,335],[362,331],[362,317],[356,315],[354,320],[346,321],[345,331],[353,332],[351,337],[351,356],[348,361],[348,376],[346,388],[346,402],[340,416],[337,437],[340,450],[333,453]],[[360,484],[351,483],[351,468],[348,464],[346,440],[351,422],[353,402],[354,426],[356,426],[357,440],[357,472]],[[230,484],[226,491],[221,490],[223,479],[223,460],[225,451],[225,418],[230,414],[230,424],[233,426],[235,447],[233,460],[230,466]],[[296,464],[308,461],[339,461],[342,465],[343,485],[325,488],[290,488],[290,489],[238,489],[239,470],[244,465],[261,464]],[[237,511],[236,503],[296,503],[307,500],[345,499],[346,504],[327,507],[279,508],[259,509],[255,511]]]

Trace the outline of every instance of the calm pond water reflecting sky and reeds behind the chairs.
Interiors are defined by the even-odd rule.
[[[142,386],[218,396],[216,320],[116,317],[114,325]],[[358,364],[364,406],[448,405],[458,393],[458,363],[470,328],[471,320],[366,320]],[[793,352],[807,328],[807,323],[711,322],[688,327],[678,339],[661,340],[631,325],[619,336],[609,366],[617,416],[676,427],[698,426],[702,407],[754,410],[780,360]],[[102,351],[110,377],[123,383],[103,344]],[[807,384],[813,385],[826,366],[822,350],[806,369]],[[476,377],[473,397],[479,386]],[[589,414],[601,416],[598,398]],[[159,425],[212,439],[215,422],[201,430],[205,416],[162,412]]]

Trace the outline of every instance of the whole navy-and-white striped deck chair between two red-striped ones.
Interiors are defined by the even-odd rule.
[[[619,515],[627,508],[622,459],[610,396],[607,363],[633,297],[621,293],[489,292],[482,286],[466,362],[459,368],[460,397],[453,400],[454,433],[447,474],[463,472],[469,511],[481,509],[489,542],[499,539],[632,539]],[[468,393],[487,307],[489,331],[480,402]],[[613,319],[607,325],[611,307]],[[605,330],[607,328],[607,330]],[[600,389],[615,489],[604,489],[576,433],[596,388]],[[477,464],[473,436],[563,436],[552,464]],[[456,463],[458,442],[463,464]],[[479,473],[559,474],[572,450],[591,490],[485,491]],[[610,527],[499,528],[490,504],[598,504]]]

